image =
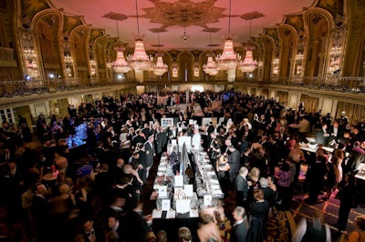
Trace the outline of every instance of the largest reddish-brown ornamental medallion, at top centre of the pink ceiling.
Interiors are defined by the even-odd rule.
[[[162,24],[162,28],[178,26],[202,26],[208,28],[207,24],[219,22],[220,18],[228,17],[224,15],[224,7],[214,6],[217,0],[206,0],[194,3],[191,0],[179,0],[174,3],[166,3],[161,0],[149,0],[154,6],[143,8],[146,12],[140,15],[151,19],[151,23]],[[209,11],[205,11],[209,9]],[[232,15],[238,16],[238,15]]]

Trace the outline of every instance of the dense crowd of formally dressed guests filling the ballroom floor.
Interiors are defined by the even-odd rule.
[[[354,173],[364,162],[364,123],[349,126],[345,114],[331,120],[320,111],[307,113],[303,104],[287,109],[274,99],[234,91],[160,96],[167,97],[166,103],[159,103],[155,93],[105,96],[69,106],[65,118],[41,115],[33,142],[24,118],[15,128],[4,122],[0,223],[7,225],[5,234],[24,241],[264,241],[267,219],[276,209],[290,208],[301,163],[309,167],[302,187],[308,203],[327,200],[339,189],[336,226],[346,230],[349,209],[359,202]],[[220,106],[213,109],[214,101]],[[198,116],[223,122],[191,125],[189,120]],[[176,122],[161,126],[162,117]],[[75,136],[81,124],[87,124],[86,145],[69,147],[68,136]],[[334,147],[332,154],[322,146],[314,156],[300,149],[299,142],[315,128],[322,130],[321,143]],[[151,168],[170,140],[179,142],[181,136],[192,136],[193,146],[208,152],[224,194],[235,194],[236,207],[232,214],[222,204],[213,212],[203,209],[199,228],[181,227],[169,235],[154,231],[146,203],[155,198]],[[76,164],[81,156],[83,169]]]

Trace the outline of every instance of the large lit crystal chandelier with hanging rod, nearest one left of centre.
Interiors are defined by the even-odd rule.
[[[151,70],[151,60],[144,50],[143,36],[140,35],[140,23],[138,20],[138,5],[136,0],[137,35],[135,36],[134,53],[128,57],[130,66],[134,70]]]

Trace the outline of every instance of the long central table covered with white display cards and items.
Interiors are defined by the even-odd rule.
[[[174,166],[180,166],[183,158],[162,154],[153,189],[156,197],[156,208],[152,211],[153,231],[165,230],[176,237],[179,227],[189,227],[193,236],[199,222],[199,212],[204,208],[217,206],[218,200],[224,197],[218,178],[206,152],[194,151],[189,156],[189,167],[193,168],[194,179],[174,173]]]

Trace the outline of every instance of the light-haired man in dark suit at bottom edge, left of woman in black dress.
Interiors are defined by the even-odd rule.
[[[247,234],[250,225],[248,223],[247,217],[245,216],[245,208],[235,207],[232,215],[235,218],[235,224],[231,230],[231,242],[247,241]]]

